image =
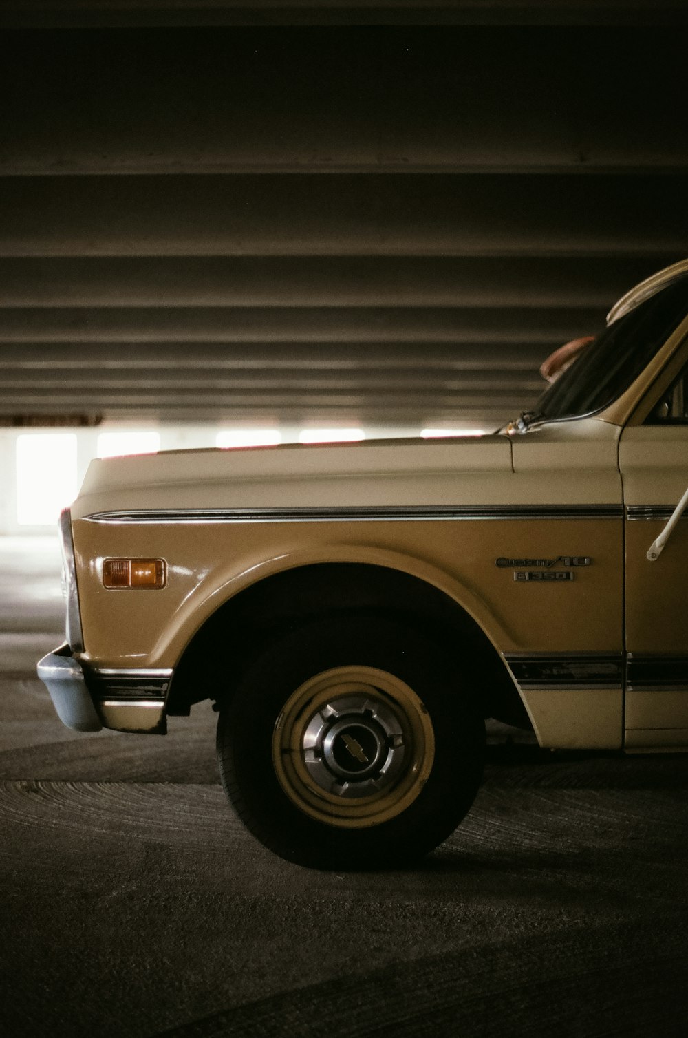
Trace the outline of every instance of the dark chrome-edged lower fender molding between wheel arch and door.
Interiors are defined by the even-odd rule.
[[[524,690],[622,688],[622,653],[505,653],[504,662]]]

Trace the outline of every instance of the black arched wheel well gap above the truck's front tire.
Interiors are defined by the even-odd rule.
[[[168,713],[188,714],[201,700],[231,694],[242,671],[268,641],[324,613],[367,613],[413,626],[449,654],[486,717],[523,728],[530,721],[499,654],[465,609],[443,592],[400,570],[351,563],[319,563],[267,577],[221,605],[196,632],[180,660]]]

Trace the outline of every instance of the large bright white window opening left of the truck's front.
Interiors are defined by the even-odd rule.
[[[17,522],[21,526],[54,526],[78,489],[75,433],[17,437]]]

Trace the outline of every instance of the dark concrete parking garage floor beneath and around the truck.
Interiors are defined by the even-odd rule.
[[[3,1034],[687,1033],[687,759],[495,745],[420,868],[309,872],[227,808],[204,705],[59,723],[61,618],[55,543],[0,542]]]

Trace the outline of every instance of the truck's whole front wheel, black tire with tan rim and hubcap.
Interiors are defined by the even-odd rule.
[[[485,723],[441,647],[393,621],[331,617],[243,674],[217,750],[229,801],[270,850],[310,868],[389,868],[469,810]]]

